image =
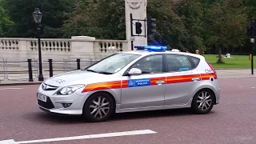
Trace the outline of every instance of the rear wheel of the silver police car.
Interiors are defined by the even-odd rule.
[[[214,106],[214,93],[210,90],[199,90],[194,95],[191,109],[195,114],[208,114]]]

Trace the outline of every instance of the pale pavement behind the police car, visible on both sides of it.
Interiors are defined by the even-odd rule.
[[[242,70],[216,70],[217,74],[218,74],[218,78],[256,78],[256,69],[254,69],[254,75],[251,74],[251,70],[250,69],[242,69]],[[62,72],[58,72],[58,74],[62,74]],[[28,75],[28,74],[26,74]],[[16,75],[14,77],[17,80],[3,80],[1,81],[0,79],[0,86],[10,86],[10,85],[33,85],[33,84],[41,84],[42,82],[38,81],[38,77],[35,77],[33,75],[34,78],[34,82],[28,82],[28,76],[23,76],[18,78],[18,76]],[[18,80],[18,79],[22,79],[23,80]],[[44,79],[49,78],[49,74],[44,74]]]

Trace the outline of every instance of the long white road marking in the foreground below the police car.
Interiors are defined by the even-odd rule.
[[[106,137],[118,137],[118,136],[127,136],[127,135],[138,135],[138,134],[155,134],[157,132],[153,130],[134,130],[134,131],[124,131],[117,133],[106,133],[106,134],[90,134],[74,137],[64,137],[64,138],[49,138],[49,139],[38,139],[32,141],[22,141],[15,142],[13,139],[0,141],[0,144],[21,144],[21,143],[35,143],[35,142],[56,142],[56,141],[68,141],[68,140],[77,140],[77,139],[88,139],[88,138],[106,138]]]

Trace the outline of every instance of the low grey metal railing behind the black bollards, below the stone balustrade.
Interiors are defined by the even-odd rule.
[[[45,78],[72,70],[81,70],[98,62],[102,58],[64,58],[48,59],[42,61],[42,70]],[[38,59],[14,61],[0,58],[0,82],[2,81],[28,81],[34,82],[38,78]]]

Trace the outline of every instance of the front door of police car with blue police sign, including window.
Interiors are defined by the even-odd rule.
[[[142,70],[142,74],[122,77],[121,109],[163,106],[166,76],[162,74],[162,54],[146,56],[131,68]]]

